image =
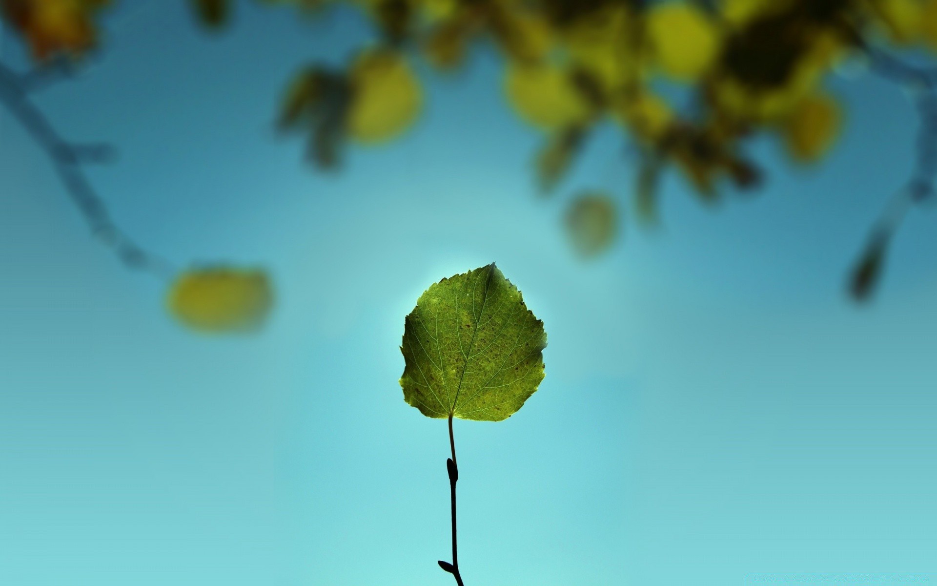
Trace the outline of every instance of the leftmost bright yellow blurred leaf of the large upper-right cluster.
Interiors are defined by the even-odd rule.
[[[508,66],[506,89],[517,112],[540,128],[583,124],[591,115],[586,98],[569,73],[556,66],[513,63]]]

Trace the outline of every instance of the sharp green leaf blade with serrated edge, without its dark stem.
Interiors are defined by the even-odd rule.
[[[507,419],[543,381],[543,322],[494,263],[430,285],[407,316],[404,399],[427,417]]]

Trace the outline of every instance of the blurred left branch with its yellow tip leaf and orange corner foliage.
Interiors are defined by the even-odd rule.
[[[106,3],[0,0],[0,16],[22,33],[37,63],[32,71],[19,73],[0,56],[0,104],[49,158],[92,234],[126,266],[170,281],[167,308],[180,323],[210,333],[256,331],[274,304],[273,286],[266,271],[228,263],[178,271],[142,248],[114,223],[84,171],[85,165],[112,160],[114,149],[109,144],[67,140],[30,97],[31,92],[73,75],[76,57],[84,56],[96,38],[91,16]]]

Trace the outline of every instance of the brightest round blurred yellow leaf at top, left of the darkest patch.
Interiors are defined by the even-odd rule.
[[[715,24],[705,12],[683,2],[650,8],[647,38],[658,66],[677,80],[699,79],[719,54],[720,36]]]

